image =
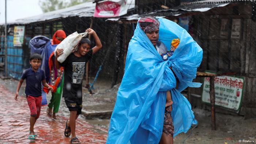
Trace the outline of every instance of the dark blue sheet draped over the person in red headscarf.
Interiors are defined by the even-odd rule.
[[[50,70],[48,60],[50,54],[54,51],[57,45],[52,45],[49,38],[38,35],[29,41],[30,53],[38,53],[42,56],[42,62],[40,68],[45,71],[46,82],[50,79]],[[42,86],[43,88],[43,86]],[[42,106],[47,105],[46,93],[42,90]]]

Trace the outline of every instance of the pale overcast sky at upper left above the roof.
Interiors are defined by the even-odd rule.
[[[39,0],[7,0],[7,22],[42,14]],[[5,0],[0,0],[0,23],[5,22]]]

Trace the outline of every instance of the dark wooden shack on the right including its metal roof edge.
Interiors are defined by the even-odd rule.
[[[251,118],[256,117],[255,11],[254,0],[203,0],[109,21],[125,25],[136,23],[143,16],[188,19],[188,32],[203,49],[203,61],[198,71],[235,72],[233,76],[243,79],[240,108],[217,106],[216,111]],[[204,78],[198,77],[194,81],[203,83]],[[203,86],[191,88],[190,92],[193,107],[210,110],[210,105],[202,102]]]

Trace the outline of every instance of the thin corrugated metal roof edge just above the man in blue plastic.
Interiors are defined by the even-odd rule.
[[[131,21],[131,20],[139,20],[144,16],[156,16],[156,17],[171,17],[171,16],[179,16],[182,14],[194,13],[194,12],[205,12],[215,7],[225,7],[229,3],[219,3],[219,4],[210,4],[210,3],[203,3],[203,4],[190,4],[190,5],[181,5],[178,7],[170,8],[168,10],[161,10],[156,12],[151,12],[149,14],[142,14],[142,15],[130,15],[130,16],[123,16],[120,18],[109,18],[107,21]]]

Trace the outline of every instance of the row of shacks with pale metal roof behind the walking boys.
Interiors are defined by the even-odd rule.
[[[135,1],[128,0],[128,15],[134,12]],[[19,79],[23,69],[30,67],[29,41],[36,35],[44,35],[52,38],[58,29],[65,31],[67,35],[78,31],[84,32],[90,26],[97,32],[101,39],[103,48],[94,54],[90,66],[89,76],[95,77],[99,66],[102,70],[99,77],[112,80],[112,85],[121,81],[123,76],[123,41],[120,33],[123,27],[116,23],[105,22],[106,18],[94,18],[95,3],[93,1],[74,5],[62,10],[47,12],[30,18],[18,19],[14,23],[7,25],[7,64],[8,75]],[[14,27],[25,26],[24,42],[22,46],[14,46]],[[132,25],[130,26],[132,30]],[[0,66],[4,64],[4,25],[0,25]],[[132,34],[131,34],[132,35]],[[92,39],[93,45],[94,40]],[[15,54],[13,54],[15,53]],[[121,61],[120,61],[121,60]],[[119,72],[120,69],[120,72]],[[0,67],[0,74],[3,75],[4,69]]]

